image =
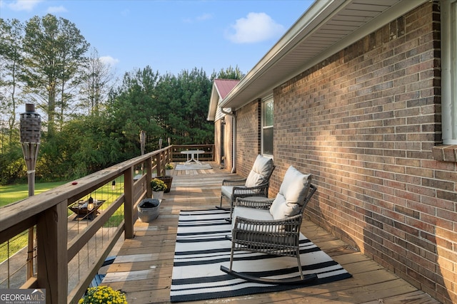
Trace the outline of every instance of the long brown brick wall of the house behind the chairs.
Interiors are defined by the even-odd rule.
[[[457,303],[457,169],[441,142],[439,7],[427,2],[275,88],[272,194],[313,175],[307,215],[443,303]],[[256,103],[238,111],[238,168]],[[249,118],[250,117],[250,118]],[[240,166],[241,163],[241,166]]]

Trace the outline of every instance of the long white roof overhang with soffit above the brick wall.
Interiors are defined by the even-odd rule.
[[[317,0],[221,101],[240,108],[427,0]]]

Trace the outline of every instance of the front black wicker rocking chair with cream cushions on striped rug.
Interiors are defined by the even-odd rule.
[[[316,187],[311,184],[311,176],[290,167],[276,199],[237,198],[233,211],[230,266],[221,266],[221,271],[256,283],[300,284],[316,280],[316,274],[303,275],[298,241],[303,211],[314,192]],[[295,257],[300,276],[271,279],[233,271],[234,251]]]

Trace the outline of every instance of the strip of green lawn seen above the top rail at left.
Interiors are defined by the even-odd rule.
[[[48,191],[54,187],[65,184],[66,182],[44,182],[35,184],[35,194]],[[27,184],[13,184],[10,186],[0,186],[0,207],[7,204],[26,199],[29,196],[29,186]]]

